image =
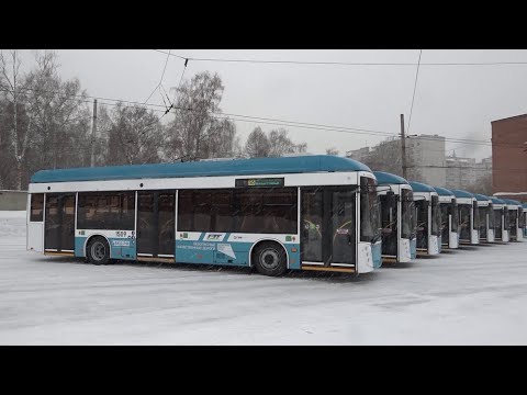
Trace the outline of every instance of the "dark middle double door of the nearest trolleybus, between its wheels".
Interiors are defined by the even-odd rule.
[[[137,256],[173,257],[175,201],[173,191],[137,193]]]

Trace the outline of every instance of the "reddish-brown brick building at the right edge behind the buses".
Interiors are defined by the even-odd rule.
[[[527,193],[527,114],[491,122],[492,190]],[[527,195],[517,200],[527,201]]]

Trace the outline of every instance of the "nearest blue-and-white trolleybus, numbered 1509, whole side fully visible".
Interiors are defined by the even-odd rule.
[[[336,156],[41,170],[27,204],[27,249],[94,264],[381,266],[375,177]]]

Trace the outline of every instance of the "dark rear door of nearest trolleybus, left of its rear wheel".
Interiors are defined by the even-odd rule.
[[[75,194],[47,193],[44,248],[51,252],[74,252]]]

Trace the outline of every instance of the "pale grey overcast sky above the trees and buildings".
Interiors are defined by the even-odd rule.
[[[168,52],[168,49],[161,49]],[[419,50],[240,50],[171,49],[195,58],[343,63],[417,63]],[[24,68],[34,65],[32,50],[20,52]],[[153,49],[60,49],[60,76],[78,77],[88,94],[144,102],[159,82],[167,55]],[[526,61],[527,50],[424,49],[426,63]],[[164,87],[176,87],[184,60],[170,57]],[[225,113],[400,132],[400,114],[410,117],[417,66],[339,66],[249,64],[189,60],[184,78],[217,72],[225,86]],[[527,64],[493,66],[427,66],[419,68],[410,134],[450,138],[491,138],[491,121],[527,112]],[[149,103],[162,104],[156,93]],[[166,117],[168,119],[168,116]],[[258,124],[237,121],[243,143]],[[260,124],[265,131],[273,125]],[[307,143],[313,154],[337,147],[341,154],[384,137],[287,127],[293,140]],[[481,159],[491,147],[447,144],[447,155]]]

